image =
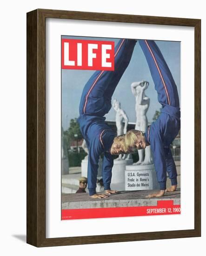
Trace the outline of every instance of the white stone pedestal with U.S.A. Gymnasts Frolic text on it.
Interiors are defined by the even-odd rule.
[[[149,189],[159,189],[154,165],[127,165],[125,170],[125,190]]]

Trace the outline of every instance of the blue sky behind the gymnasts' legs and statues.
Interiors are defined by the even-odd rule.
[[[111,38],[95,38],[95,37],[74,37],[63,36],[68,39],[83,39],[83,40],[109,40],[114,41],[115,45],[119,39]],[[162,52],[168,67],[173,75],[173,79],[177,85],[179,100],[180,100],[180,42],[176,41],[155,41],[160,51]],[[89,80],[94,70],[73,70],[62,69],[62,127],[66,130],[69,127],[69,122],[73,118],[79,117],[79,104],[82,90]],[[129,122],[136,122],[135,113],[135,97],[131,91],[131,84],[134,81],[146,80],[149,82],[149,87],[145,94],[150,98],[150,106],[147,112],[148,121],[153,121],[153,115],[156,110],[161,108],[157,100],[157,92],[154,89],[154,83],[150,74],[146,58],[137,42],[132,59],[125,73],[120,79],[120,82],[113,94],[113,99],[117,99],[121,103],[121,108],[125,110],[129,118]],[[106,114],[106,120],[115,120],[115,111],[113,108]]]

